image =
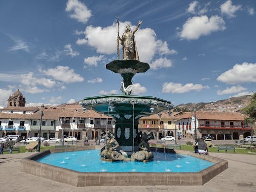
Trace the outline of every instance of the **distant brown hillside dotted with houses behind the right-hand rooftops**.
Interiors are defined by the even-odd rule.
[[[208,103],[187,103],[179,104],[177,108],[182,111],[191,112],[194,108],[197,111],[226,111],[226,112],[236,112],[243,109],[245,106],[250,104],[251,95],[245,95],[241,97],[231,97],[225,100],[212,101]],[[178,111],[180,111],[178,110]]]

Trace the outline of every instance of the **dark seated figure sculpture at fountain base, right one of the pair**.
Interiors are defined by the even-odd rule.
[[[139,144],[139,150],[136,153],[133,153],[131,159],[135,159],[137,161],[151,161],[154,159],[154,154],[150,151],[149,140],[154,139],[154,135],[151,132],[150,134],[143,133],[142,141]]]

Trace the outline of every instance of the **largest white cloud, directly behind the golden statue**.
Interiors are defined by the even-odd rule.
[[[122,36],[126,24],[131,24],[130,22],[120,22],[119,36]],[[136,26],[131,26],[132,30]],[[116,38],[117,38],[117,24],[113,23],[111,26],[93,27],[88,26],[84,31],[85,37],[83,39],[78,39],[77,44],[83,45],[87,44],[96,49],[98,53],[101,54],[114,54],[116,53]],[[176,50],[169,50],[166,41],[162,41],[156,38],[156,33],[150,28],[141,28],[135,33],[136,45],[139,53],[140,60],[143,62],[150,62],[153,57],[157,54],[167,55],[167,54],[177,54]],[[120,45],[120,49],[122,46]],[[122,51],[120,51],[121,53]],[[121,54],[120,54],[121,55]]]

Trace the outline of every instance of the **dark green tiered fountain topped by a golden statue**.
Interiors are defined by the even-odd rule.
[[[102,150],[103,159],[109,160],[153,160],[154,156],[149,151],[147,140],[153,135],[143,135],[139,137],[138,124],[139,119],[144,116],[150,116],[163,110],[171,110],[171,102],[150,96],[132,95],[134,85],[132,78],[136,73],[145,73],[150,66],[147,63],[140,62],[136,48],[134,33],[138,30],[139,22],[135,31],[131,31],[130,26],[126,26],[122,35],[121,45],[122,60],[114,60],[106,65],[106,69],[119,73],[123,77],[122,95],[103,95],[84,98],[80,104],[83,108],[93,109],[94,111],[110,115],[115,119],[114,137],[111,133],[106,135],[108,141]],[[119,51],[119,40],[117,50]],[[106,132],[108,132],[106,130]],[[115,138],[115,139],[114,139]],[[131,156],[132,155],[132,156]],[[130,158],[131,156],[131,158]]]

